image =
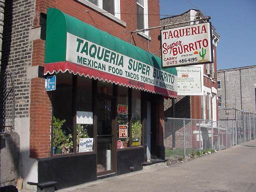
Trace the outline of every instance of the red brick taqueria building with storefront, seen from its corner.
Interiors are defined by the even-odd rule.
[[[139,17],[141,12],[137,11],[142,11],[142,15],[144,15],[142,21]],[[69,38],[77,34],[76,52],[80,51],[79,54],[82,51],[86,52],[86,43],[80,47],[80,50],[78,47],[85,41],[82,39],[87,36],[92,39],[91,47],[101,47],[101,50],[104,47],[105,51],[108,48],[109,52],[118,49],[122,55],[139,60],[137,62],[137,65],[140,65],[137,67],[141,67],[139,75],[149,74],[152,70],[163,70],[159,64],[159,57],[144,51],[148,49],[148,43],[150,43],[151,52],[158,51],[159,29],[151,30],[149,36],[147,32],[138,32],[132,35],[130,32],[138,27],[146,28],[159,25],[158,0],[109,0],[109,2],[102,0],[7,0],[4,12],[1,76],[14,72],[16,83],[14,130],[20,137],[19,176],[23,178],[25,189],[40,191],[46,187],[49,190],[54,190],[54,185],[56,188],[63,188],[95,180],[104,174],[113,175],[139,170],[141,163],[148,158],[163,158],[164,149],[161,139],[164,124],[163,95],[176,96],[175,90],[149,86],[149,82],[141,84],[136,80],[125,81],[121,77],[111,77],[109,74],[103,77],[104,73],[100,72],[95,72],[94,75],[86,73],[84,72],[86,67],[81,67],[82,64],[86,64],[86,58],[79,57],[79,55],[77,56],[77,62],[80,61],[79,67],[68,62],[67,57],[64,60],[58,60],[60,62],[52,62],[52,60],[58,59],[57,56],[63,55],[63,52],[59,53],[63,46],[66,46],[66,49],[63,49],[64,52],[68,53],[68,48],[72,46],[72,43],[70,46],[65,43],[68,43]],[[65,21],[62,22],[63,20]],[[142,26],[140,26],[141,24]],[[76,31],[76,27],[80,27],[80,30]],[[63,31],[66,33],[61,36]],[[81,31],[84,33],[82,34]],[[86,33],[86,31],[89,32]],[[109,40],[106,41],[106,39]],[[98,45],[96,42],[105,46],[100,43]],[[111,49],[111,47],[113,48]],[[92,48],[89,49],[89,51],[91,50]],[[104,59],[108,60],[110,57],[109,62],[111,59],[112,62],[115,62],[113,60],[117,59],[116,55],[120,52],[111,52],[111,55],[109,52],[104,53]],[[122,65],[123,61],[120,60],[119,64]],[[95,67],[95,61],[93,63]],[[129,63],[131,65],[131,60]],[[67,68],[61,68],[63,70],[54,68],[63,65]],[[98,65],[99,62],[97,62]],[[73,66],[74,68],[71,68]],[[149,67],[152,69],[147,70]],[[139,69],[135,70],[139,71]],[[65,71],[69,71],[69,73]],[[93,70],[90,69],[90,71]],[[175,68],[164,69],[164,71],[169,75],[176,75]],[[56,75],[56,90],[46,91],[45,78],[51,74]],[[101,74],[103,76],[97,76]],[[122,81],[120,82],[118,79]],[[141,79],[143,78],[141,77]],[[91,96],[88,96],[90,94]],[[122,103],[122,107],[127,110],[127,113],[120,113],[122,114],[120,115],[119,109],[117,112],[115,111],[117,108],[115,104],[119,105],[118,99],[124,103]],[[78,100],[82,105],[77,104]],[[86,104],[87,100],[90,101],[89,104]],[[142,100],[143,102],[141,102]],[[104,104],[99,105],[98,103],[101,102]],[[149,108],[151,109],[149,111],[150,119],[147,114]],[[92,121],[89,121],[86,116],[89,123],[81,126],[84,135],[81,137],[78,137],[76,123],[78,110],[87,112],[86,115],[93,114]],[[101,114],[102,111],[104,114]],[[61,145],[60,153],[62,154],[58,154],[57,147],[53,146],[54,138],[56,138],[53,130],[53,116],[64,120],[58,121],[65,126],[65,130],[61,130],[65,138]],[[117,137],[118,120],[122,120],[122,123],[125,121],[127,125],[130,124],[130,126],[126,126],[128,143],[126,143],[126,139]],[[142,126],[142,128],[140,127],[140,135],[142,134],[140,138],[133,139],[132,137],[133,120],[139,122],[138,126]],[[102,132],[106,130],[103,130],[102,127],[103,125],[108,126],[107,123],[110,123],[110,132],[103,134]],[[150,134],[148,136],[149,132],[153,132],[151,137]],[[102,137],[105,136],[106,139],[99,138],[99,134],[102,134]],[[147,145],[148,137],[151,138],[150,146]],[[87,141],[91,138],[91,140],[94,139],[93,147],[91,146],[88,152],[78,154],[79,145],[73,144],[77,143],[77,138]],[[108,138],[110,141],[106,141]],[[68,144],[71,143],[72,147],[70,145],[69,148],[67,147],[66,140],[69,141]],[[99,142],[100,140],[102,142]],[[105,142],[109,143],[104,145]],[[128,144],[127,149],[124,143]],[[120,149],[117,149],[116,145]],[[103,152],[102,148],[104,148]],[[104,162],[101,163],[101,161]]]

